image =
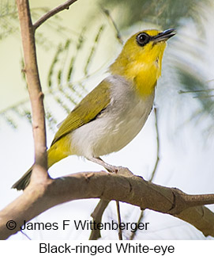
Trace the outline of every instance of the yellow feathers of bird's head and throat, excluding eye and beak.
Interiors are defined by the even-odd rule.
[[[156,36],[158,30],[145,30],[149,36]],[[138,34],[138,33],[137,33]],[[144,47],[137,44],[137,34],[130,37],[118,59],[110,67],[113,75],[122,75],[134,83],[134,89],[141,97],[152,94],[161,75],[161,63],[166,42],[148,42]]]

